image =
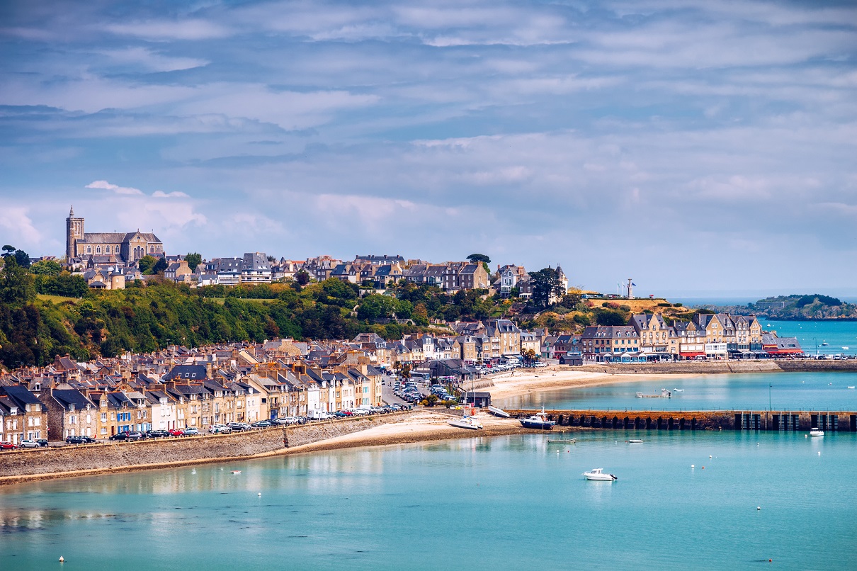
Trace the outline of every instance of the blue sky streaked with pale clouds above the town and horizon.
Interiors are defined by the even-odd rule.
[[[853,2],[0,3],[0,241],[854,291]]]

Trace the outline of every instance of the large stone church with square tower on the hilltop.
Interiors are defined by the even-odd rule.
[[[87,232],[83,219],[75,218],[71,207],[65,219],[65,255],[69,264],[73,259],[130,265],[144,255],[164,255],[164,243],[149,232]]]

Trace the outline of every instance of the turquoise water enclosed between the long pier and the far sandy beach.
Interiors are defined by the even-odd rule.
[[[746,373],[642,378],[636,382],[524,394],[500,400],[504,408],[611,410],[857,411],[857,373]],[[661,388],[670,399],[638,399]],[[683,388],[684,392],[676,392]]]

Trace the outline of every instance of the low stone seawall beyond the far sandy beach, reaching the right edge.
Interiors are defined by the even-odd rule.
[[[678,363],[612,363],[586,364],[568,367],[566,370],[579,370],[591,373],[610,373],[613,375],[704,375],[711,373],[779,373],[782,371],[823,372],[857,371],[857,359],[833,361],[829,359],[767,359],[759,361],[680,361]]]

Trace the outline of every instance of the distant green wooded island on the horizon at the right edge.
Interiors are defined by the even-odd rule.
[[[759,299],[753,304],[746,305],[705,305],[703,307],[739,316],[755,315],[773,321],[857,319],[857,304],[846,304],[841,299],[820,293],[776,296],[776,298]]]

